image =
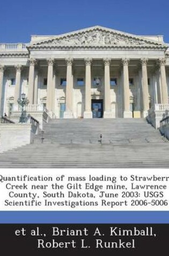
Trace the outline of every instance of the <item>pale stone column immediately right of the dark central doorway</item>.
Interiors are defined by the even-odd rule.
[[[105,58],[105,102],[104,102],[104,118],[115,117],[115,113],[111,111],[111,77],[110,77],[111,59]]]

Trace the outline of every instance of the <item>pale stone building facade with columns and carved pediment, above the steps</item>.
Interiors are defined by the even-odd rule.
[[[1,115],[30,108],[52,118],[145,117],[168,103],[169,51],[163,36],[135,36],[101,26],[28,44],[0,44]]]

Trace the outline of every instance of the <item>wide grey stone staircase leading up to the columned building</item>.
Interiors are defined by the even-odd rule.
[[[100,141],[100,134],[102,140]],[[168,168],[169,143],[145,119],[58,119],[1,168]]]

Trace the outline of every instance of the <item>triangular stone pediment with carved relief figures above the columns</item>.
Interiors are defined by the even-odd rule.
[[[54,36],[28,46],[29,49],[167,49],[167,44],[101,26]]]

